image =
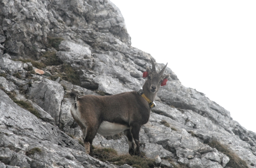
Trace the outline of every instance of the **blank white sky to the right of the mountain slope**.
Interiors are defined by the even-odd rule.
[[[150,53],[186,87],[203,92],[256,132],[255,0],[110,0],[132,46]]]

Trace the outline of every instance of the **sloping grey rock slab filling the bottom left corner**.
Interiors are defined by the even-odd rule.
[[[85,154],[83,146],[76,140],[17,106],[2,90],[0,107],[1,163],[20,167],[115,167]],[[25,155],[35,147],[41,152]]]

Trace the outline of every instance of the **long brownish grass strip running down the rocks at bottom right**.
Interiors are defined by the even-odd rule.
[[[219,152],[222,152],[223,154],[227,155],[229,157],[229,162],[226,165],[227,167],[232,168],[248,168],[247,163],[238,157],[233,151],[228,149],[227,146],[221,144],[220,142],[216,140],[212,140],[208,143],[209,146],[212,148],[216,148]]]

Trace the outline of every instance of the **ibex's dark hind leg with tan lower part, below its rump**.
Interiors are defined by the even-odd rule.
[[[86,153],[91,156],[94,156],[92,152],[92,141],[97,134],[97,129],[98,128],[95,128],[95,127],[86,127],[85,137],[84,137],[84,130],[83,130],[83,140],[85,144],[85,150],[86,150]]]

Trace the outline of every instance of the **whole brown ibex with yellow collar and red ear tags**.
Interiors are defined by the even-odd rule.
[[[124,92],[111,96],[85,95],[78,97],[70,93],[70,112],[83,131],[87,154],[92,154],[92,141],[98,132],[114,135],[124,131],[129,143],[129,154],[142,157],[139,151],[139,130],[149,121],[150,109],[160,85],[166,84],[170,74],[163,75],[167,64],[157,73],[153,59],[152,72],[149,67],[143,73],[148,80],[138,92]]]

